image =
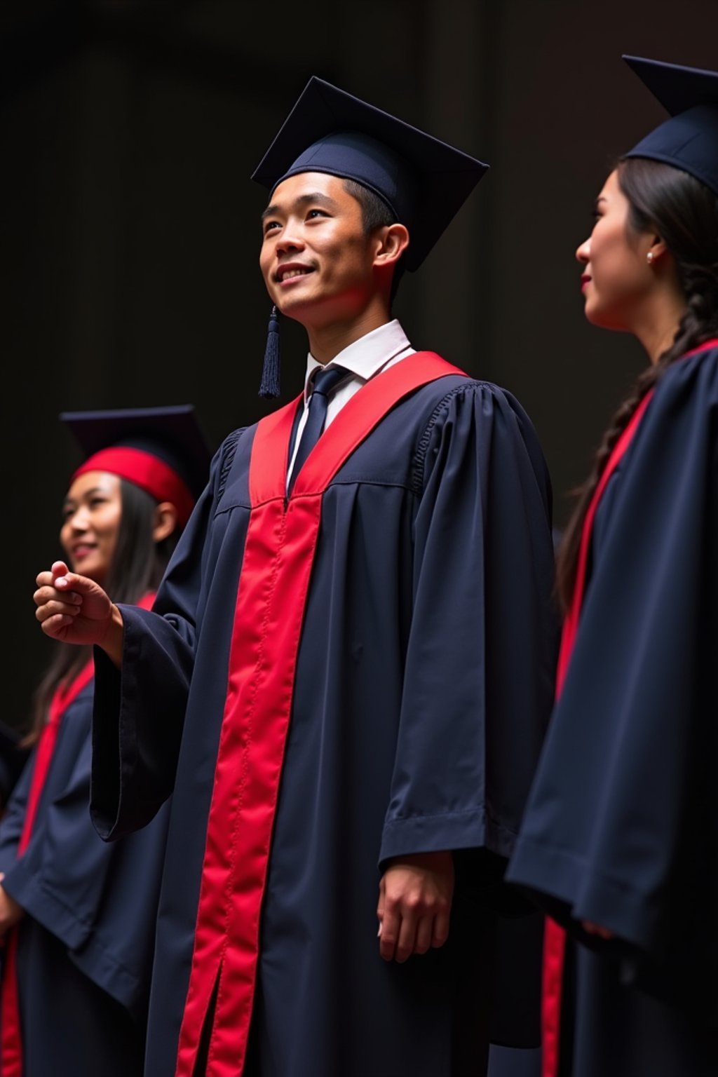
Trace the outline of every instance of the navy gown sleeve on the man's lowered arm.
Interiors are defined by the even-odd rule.
[[[413,612],[380,861],[453,850],[465,880],[501,884],[553,697],[548,473],[518,402],[475,381],[435,409],[417,472]]]

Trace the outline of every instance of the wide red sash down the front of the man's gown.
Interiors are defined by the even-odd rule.
[[[207,1077],[240,1077],[244,1068],[262,903],[324,490],[404,396],[463,373],[432,352],[417,352],[367,381],[310,452],[288,502],[287,450],[302,396],[257,425],[177,1077],[193,1077],[213,994]]]

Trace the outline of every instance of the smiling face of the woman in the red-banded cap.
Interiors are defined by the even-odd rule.
[[[121,480],[109,472],[79,475],[62,503],[60,543],[73,572],[103,584],[117,545]]]

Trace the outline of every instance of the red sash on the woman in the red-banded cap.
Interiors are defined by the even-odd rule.
[[[149,610],[154,601],[154,593],[147,595],[137,604]],[[57,735],[62,715],[78,698],[83,688],[87,687],[95,673],[95,663],[90,658],[83,666],[71,684],[55,689],[50,704],[47,723],[43,727],[34,753],[34,769],[28,793],[23,831],[17,844],[17,856],[22,856],[32,836],[34,817],[38,813],[40,797],[47,780],[47,772],[53,760]],[[99,840],[99,838],[98,838]],[[4,957],[2,984],[0,985],[0,1077],[23,1077],[23,1036],[20,1027],[19,998],[17,992],[17,932],[19,925],[12,927],[4,940]],[[58,984],[58,991],[61,991]]]

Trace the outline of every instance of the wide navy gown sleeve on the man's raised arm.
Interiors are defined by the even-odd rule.
[[[122,668],[95,648],[90,816],[105,841],[145,826],[173,789],[194,666],[207,529],[235,444],[230,435],[215,453],[208,486],[152,611],[122,605]]]

